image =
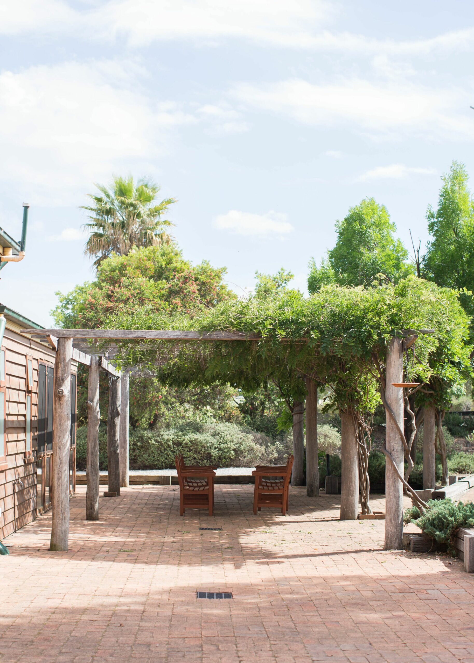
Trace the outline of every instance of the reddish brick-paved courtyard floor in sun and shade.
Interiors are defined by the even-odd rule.
[[[384,522],[339,522],[337,496],[291,489],[283,518],[252,495],[218,485],[212,518],[180,518],[175,487],[133,487],[86,522],[80,487],[69,552],[48,551],[50,514],[5,540],[0,662],[474,662],[460,562],[384,552]]]

